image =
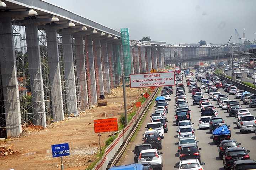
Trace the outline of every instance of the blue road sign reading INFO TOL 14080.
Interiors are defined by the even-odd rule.
[[[57,145],[52,145],[52,155],[55,157],[63,157],[69,155],[69,145],[68,143],[61,143]]]

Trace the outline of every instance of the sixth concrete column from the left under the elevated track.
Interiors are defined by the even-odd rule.
[[[95,68],[94,68],[94,51],[93,51],[93,42],[92,38],[86,37],[87,39],[87,52],[88,52],[88,70],[90,75],[90,82],[89,82],[89,90],[90,90],[90,105],[97,104],[97,90],[96,90],[96,80],[95,80]]]

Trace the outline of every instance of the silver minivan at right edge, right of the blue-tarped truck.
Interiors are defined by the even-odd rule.
[[[240,132],[243,133],[244,131],[254,131],[255,130],[255,117],[254,115],[244,115],[241,116],[240,119]]]

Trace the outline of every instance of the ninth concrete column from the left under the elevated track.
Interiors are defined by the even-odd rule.
[[[111,88],[115,88],[115,77],[114,77],[114,56],[113,56],[113,44],[112,43],[108,43],[107,44],[107,52],[108,52],[108,65],[110,68],[110,87]]]

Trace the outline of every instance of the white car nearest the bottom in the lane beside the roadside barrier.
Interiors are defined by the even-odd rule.
[[[149,162],[154,169],[162,169],[162,152],[157,149],[142,150],[138,159],[138,163],[141,162]]]

